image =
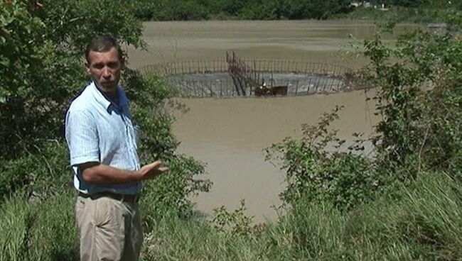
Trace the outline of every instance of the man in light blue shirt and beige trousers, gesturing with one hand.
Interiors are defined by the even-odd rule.
[[[138,260],[143,242],[137,205],[141,181],[168,168],[160,161],[139,166],[138,133],[118,85],[124,57],[117,41],[96,37],[85,57],[92,82],[72,101],[65,121],[79,191],[75,212],[80,260]]]

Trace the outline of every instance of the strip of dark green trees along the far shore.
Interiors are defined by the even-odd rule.
[[[439,23],[451,11],[462,10],[462,1],[301,1],[301,0],[136,0],[141,21],[225,21],[354,19],[408,23]]]

